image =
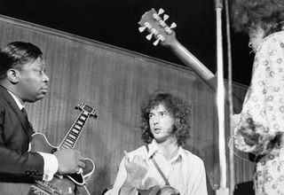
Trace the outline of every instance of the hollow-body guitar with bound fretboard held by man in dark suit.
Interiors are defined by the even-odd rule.
[[[41,133],[36,133],[32,136],[31,152],[48,152],[53,153],[61,149],[75,148],[75,144],[81,135],[84,125],[89,117],[97,118],[96,110],[89,105],[80,104],[75,106],[81,113],[77,117],[72,127],[68,130],[66,136],[59,146],[51,145],[46,136]],[[37,181],[34,184],[30,183],[0,183],[0,194],[4,195],[27,195],[33,194],[42,195],[72,195],[75,191],[75,185],[83,186],[88,182],[92,173],[95,170],[95,164],[91,159],[83,160],[85,167],[83,173],[69,175],[54,175],[51,182]],[[84,186],[83,186],[84,187]],[[85,189],[85,188],[84,188]],[[86,189],[85,189],[86,190]],[[87,190],[86,190],[87,191]],[[20,193],[19,193],[20,192]],[[89,192],[86,192],[88,194]]]

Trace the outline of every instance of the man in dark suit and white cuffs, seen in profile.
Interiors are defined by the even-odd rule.
[[[51,181],[59,173],[77,173],[85,165],[80,152],[29,152],[34,130],[26,102],[42,99],[48,90],[43,53],[32,43],[14,42],[0,49],[0,182]]]

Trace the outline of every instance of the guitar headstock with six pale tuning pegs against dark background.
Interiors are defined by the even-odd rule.
[[[177,27],[176,23],[173,22],[170,26],[168,26],[165,20],[169,19],[169,15],[163,14],[164,11],[162,9],[159,12],[156,12],[154,9],[144,13],[141,20],[138,24],[139,31],[142,33],[147,30],[150,34],[146,35],[147,40],[151,40],[152,37],[156,39],[154,41],[154,46],[158,43],[161,43],[163,46],[170,46],[170,43],[176,41],[175,32],[172,28]]]

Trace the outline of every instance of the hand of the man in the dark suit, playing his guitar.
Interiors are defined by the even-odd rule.
[[[78,151],[74,149],[63,149],[57,152],[54,152],[58,162],[59,168],[57,173],[60,175],[65,174],[75,174],[80,171],[80,168],[84,168],[85,164],[83,163],[83,156]]]

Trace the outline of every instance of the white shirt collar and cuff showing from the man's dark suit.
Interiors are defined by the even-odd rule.
[[[22,110],[24,108],[24,105],[20,103],[20,100],[10,90],[8,90],[8,92],[11,94],[12,98],[15,100],[20,110]],[[54,154],[46,152],[38,153],[43,156],[43,181],[49,182],[53,178],[53,175],[57,172],[59,168],[59,162]]]

